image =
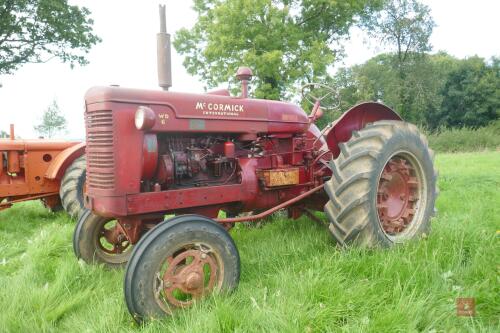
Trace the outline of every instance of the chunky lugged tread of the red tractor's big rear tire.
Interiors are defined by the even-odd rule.
[[[354,131],[350,140],[339,144],[340,154],[330,162],[333,176],[325,183],[329,197],[325,213],[330,220],[330,233],[338,245],[380,245],[370,223],[371,182],[379,167],[377,158],[397,130],[412,132],[428,148],[427,139],[416,126],[394,120],[369,123]],[[434,153],[430,156],[433,159]],[[434,181],[436,177],[434,173]]]

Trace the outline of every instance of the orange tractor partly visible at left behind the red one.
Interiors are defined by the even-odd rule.
[[[0,139],[0,211],[14,203],[40,199],[52,211],[77,217],[85,191],[85,143]]]

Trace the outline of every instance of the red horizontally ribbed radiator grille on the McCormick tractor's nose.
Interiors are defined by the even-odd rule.
[[[87,186],[114,190],[113,113],[99,110],[85,113],[87,131]]]

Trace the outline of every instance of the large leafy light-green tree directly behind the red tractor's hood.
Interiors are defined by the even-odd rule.
[[[349,28],[383,0],[195,0],[198,20],[175,36],[184,66],[214,87],[236,69],[255,74],[257,98],[280,99],[306,82],[323,81],[342,54]]]

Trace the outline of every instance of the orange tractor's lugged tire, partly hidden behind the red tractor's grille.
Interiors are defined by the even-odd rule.
[[[84,210],[86,184],[85,155],[80,156],[66,169],[61,180],[59,196],[64,210],[73,218]]]

